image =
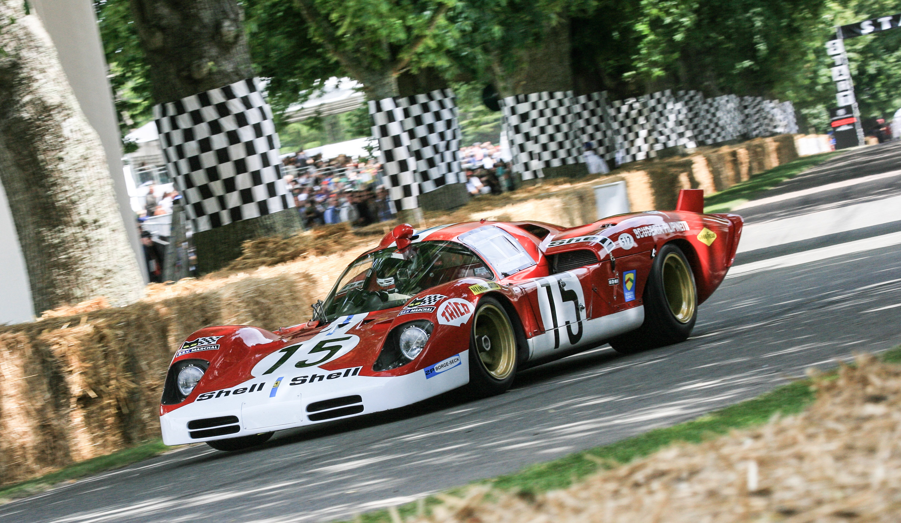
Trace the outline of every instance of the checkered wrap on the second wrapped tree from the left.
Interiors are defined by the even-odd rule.
[[[441,185],[465,182],[451,89],[370,101],[369,116],[381,150],[383,181],[398,209],[418,207],[420,194]]]

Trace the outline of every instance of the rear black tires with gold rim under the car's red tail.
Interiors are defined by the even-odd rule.
[[[685,341],[697,320],[697,288],[685,254],[668,243],[660,248],[644,284],[644,322],[609,341],[621,354]]]

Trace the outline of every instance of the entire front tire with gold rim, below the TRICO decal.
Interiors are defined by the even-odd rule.
[[[516,340],[514,323],[504,305],[491,296],[482,298],[469,333],[468,389],[473,396],[494,396],[510,388],[519,359]]]

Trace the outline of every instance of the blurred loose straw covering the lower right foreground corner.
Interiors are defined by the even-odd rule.
[[[481,485],[416,523],[897,521],[901,365],[858,356],[805,412],[679,444],[538,496]]]

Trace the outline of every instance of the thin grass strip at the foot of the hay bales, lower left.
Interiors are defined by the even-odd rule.
[[[122,468],[127,464],[143,461],[173,448],[175,447],[163,445],[162,439],[155,439],[113,454],[100,455],[77,464],[70,464],[55,473],[0,488],[0,503],[46,491],[59,482],[71,482],[85,476]]]

